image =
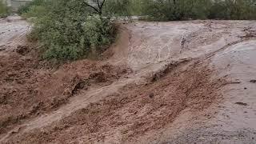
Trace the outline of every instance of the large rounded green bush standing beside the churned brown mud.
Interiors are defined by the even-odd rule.
[[[58,61],[86,58],[88,54],[98,54],[114,40],[110,19],[91,13],[83,0],[46,1],[40,10],[30,38],[39,40],[42,58]]]

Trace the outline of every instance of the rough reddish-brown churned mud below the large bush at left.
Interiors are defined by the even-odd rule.
[[[57,109],[80,91],[110,85],[130,73],[125,67],[88,60],[65,64],[58,70],[38,66],[39,63],[20,54],[2,56],[0,134],[27,118]]]

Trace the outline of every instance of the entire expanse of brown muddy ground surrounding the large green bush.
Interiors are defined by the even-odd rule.
[[[58,68],[0,25],[1,143],[256,142],[255,21],[122,24],[104,61]]]

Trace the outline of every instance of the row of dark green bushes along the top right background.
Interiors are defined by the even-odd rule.
[[[256,19],[255,0],[141,0],[149,20]]]

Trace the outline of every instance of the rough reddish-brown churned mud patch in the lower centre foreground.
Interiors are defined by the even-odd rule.
[[[86,143],[105,142],[104,139],[111,143],[116,137],[129,142],[150,130],[162,129],[182,110],[189,108],[197,113],[222,98],[218,89],[224,80],[212,81],[212,71],[204,66],[190,64],[188,69],[176,68],[157,81],[125,86],[53,126],[23,134],[17,138],[20,141],[10,143],[79,142],[77,138]]]

